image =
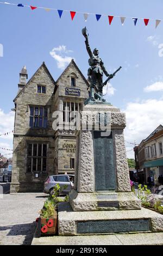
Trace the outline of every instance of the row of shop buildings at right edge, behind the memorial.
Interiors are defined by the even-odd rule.
[[[147,184],[150,176],[158,184],[159,176],[163,176],[163,126],[159,125],[139,146],[134,148],[136,169],[140,183]]]

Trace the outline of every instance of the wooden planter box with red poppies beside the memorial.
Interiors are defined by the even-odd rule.
[[[47,236],[57,234],[57,211],[54,211],[53,218],[37,218],[37,235]]]

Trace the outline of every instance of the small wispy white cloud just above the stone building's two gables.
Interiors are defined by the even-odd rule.
[[[73,57],[66,56],[65,54],[73,52],[71,50],[67,50],[65,45],[59,45],[58,47],[54,47],[51,52],[51,56],[57,61],[57,66],[59,69],[65,69],[66,66],[71,62]]]

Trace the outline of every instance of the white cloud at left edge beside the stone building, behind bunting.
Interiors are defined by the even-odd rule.
[[[14,130],[14,117],[15,112],[4,113],[2,109],[0,109],[0,147],[1,148],[9,148],[12,149],[13,145],[13,133],[11,131]],[[3,133],[10,132],[8,135],[3,135]],[[0,153],[8,154],[11,151],[0,149]],[[11,157],[9,155],[8,157]]]

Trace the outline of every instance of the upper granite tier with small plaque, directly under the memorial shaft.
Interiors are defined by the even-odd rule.
[[[69,203],[74,211],[138,210],[141,201],[133,192],[78,193],[72,190]]]

